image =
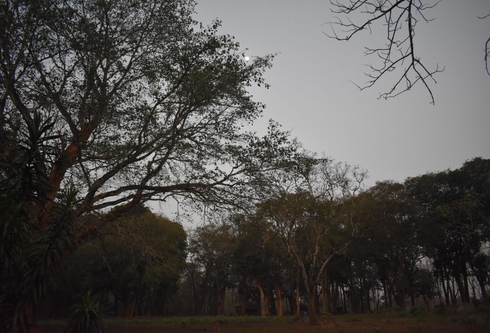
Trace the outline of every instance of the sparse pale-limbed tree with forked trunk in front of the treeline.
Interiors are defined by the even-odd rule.
[[[357,233],[358,221],[340,218],[340,208],[343,200],[361,190],[366,173],[309,154],[297,157],[296,172],[278,181],[282,195],[260,204],[258,216],[270,223],[298,267],[308,295],[310,323],[316,325],[320,275]]]

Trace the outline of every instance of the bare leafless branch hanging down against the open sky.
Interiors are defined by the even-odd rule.
[[[415,26],[420,20],[430,22],[424,11],[436,6],[424,3],[422,0],[348,0],[330,1],[332,12],[344,15],[344,18],[335,17],[335,21],[329,22],[332,34],[326,36],[337,40],[348,41],[357,32],[369,29],[371,25],[380,23],[386,26],[387,42],[380,48],[366,48],[366,56],[373,55],[379,58],[381,64],[368,64],[366,73],[368,81],[364,84],[354,83],[360,90],[372,87],[382,77],[390,72],[399,73],[399,78],[392,88],[381,93],[379,98],[388,99],[410,90],[418,81],[421,81],[427,89],[431,103],[434,104],[434,95],[431,84],[437,83],[435,75],[442,72],[439,65],[436,69],[429,70],[422,63],[422,58],[415,51]],[[368,16],[361,23],[354,23],[354,16]]]

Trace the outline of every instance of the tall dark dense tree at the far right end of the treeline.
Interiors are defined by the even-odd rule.
[[[456,170],[406,180],[410,194],[424,207],[427,228],[437,235],[424,244],[436,274],[443,283],[455,279],[463,303],[470,302],[468,266],[479,262],[490,239],[489,179],[490,160],[474,158]]]

